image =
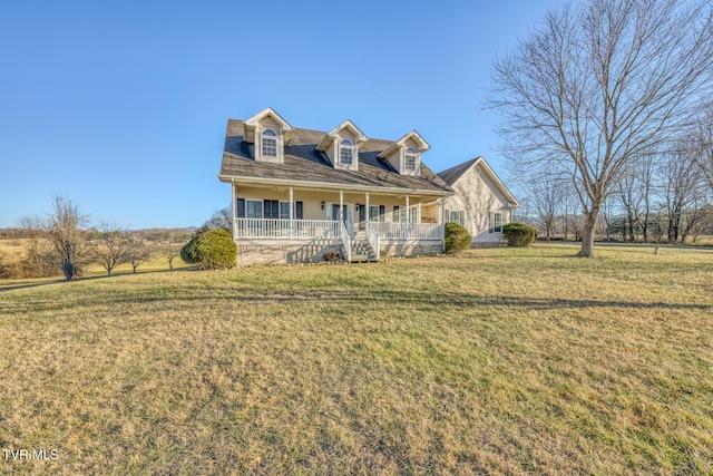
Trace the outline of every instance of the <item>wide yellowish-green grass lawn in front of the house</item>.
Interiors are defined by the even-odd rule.
[[[575,251],[1,291],[0,474],[713,474],[713,251]]]

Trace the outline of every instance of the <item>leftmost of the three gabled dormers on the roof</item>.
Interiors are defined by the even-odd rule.
[[[272,107],[245,120],[245,142],[255,144],[255,161],[284,162],[285,144],[292,137],[292,126]]]

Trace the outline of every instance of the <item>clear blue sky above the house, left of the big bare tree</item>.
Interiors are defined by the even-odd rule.
[[[0,227],[56,194],[94,223],[198,226],[229,204],[227,118],[267,106],[294,127],[417,129],[436,172],[482,155],[504,175],[490,65],[557,3],[3,2]]]

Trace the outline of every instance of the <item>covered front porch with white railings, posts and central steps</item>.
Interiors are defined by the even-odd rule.
[[[321,261],[323,250],[350,262],[441,253],[442,215],[442,195],[233,184],[235,243],[286,262]]]

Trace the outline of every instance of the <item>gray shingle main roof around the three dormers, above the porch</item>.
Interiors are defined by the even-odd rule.
[[[404,188],[448,194],[451,188],[421,162],[421,176],[401,175],[388,161],[377,158],[393,140],[368,139],[359,147],[359,171],[335,169],[326,154],[316,149],[328,133],[294,128],[284,149],[284,162],[272,164],[255,162],[254,144],[244,140],[245,125],[228,119],[223,150],[221,177],[272,178],[318,182],[334,185]]]

